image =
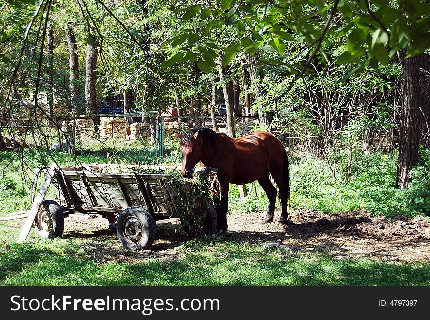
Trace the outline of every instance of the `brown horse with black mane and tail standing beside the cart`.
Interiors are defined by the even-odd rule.
[[[182,175],[191,178],[197,162],[202,167],[218,168],[220,203],[215,204],[218,215],[217,232],[227,230],[227,209],[229,184],[243,185],[258,181],[269,198],[264,222],[273,221],[276,188],[270,182],[269,173],[275,180],[280,193],[282,213],[279,222],[288,223],[287,200],[290,194],[288,158],[277,138],[263,131],[256,131],[241,138],[232,139],[226,134],[216,133],[208,128],[194,128],[183,135]]]

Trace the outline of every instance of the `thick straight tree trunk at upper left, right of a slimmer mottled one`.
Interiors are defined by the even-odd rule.
[[[88,33],[88,43],[86,44],[86,67],[85,67],[85,113],[92,114],[98,112],[97,107],[97,39]],[[93,118],[94,128],[97,131],[100,118]]]

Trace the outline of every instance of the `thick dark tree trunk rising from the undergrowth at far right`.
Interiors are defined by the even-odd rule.
[[[405,54],[405,52],[404,52]],[[400,120],[399,158],[397,162],[396,187],[403,189],[409,185],[409,170],[418,160],[419,145],[419,97],[420,97],[420,60],[417,55],[404,58],[403,103]]]

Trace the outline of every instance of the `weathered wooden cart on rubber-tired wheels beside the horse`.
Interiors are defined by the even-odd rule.
[[[101,214],[116,227],[124,247],[148,249],[155,239],[155,221],[179,218],[178,195],[169,185],[170,175],[152,173],[104,173],[115,165],[84,165],[82,167],[51,167],[45,170],[45,180],[36,194],[26,224],[31,224],[43,238],[61,236],[64,218],[73,213]],[[141,168],[141,167],[140,167]],[[166,167],[147,166],[148,169]],[[217,168],[196,168],[197,171],[216,172]],[[43,200],[49,188],[48,179],[56,189],[55,200]],[[188,182],[185,190],[191,190]],[[39,201],[37,201],[39,197]],[[35,206],[37,208],[35,208]],[[215,231],[217,218],[214,205],[208,199],[197,199],[195,214],[202,214],[202,231]],[[33,213],[33,214],[32,214]],[[33,217],[35,215],[35,217]],[[30,220],[30,221],[28,221]],[[31,228],[31,227],[30,227]],[[24,228],[20,240],[28,232]],[[25,234],[26,233],[26,234]]]

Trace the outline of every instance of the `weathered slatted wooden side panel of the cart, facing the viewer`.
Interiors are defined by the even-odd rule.
[[[57,171],[60,205],[82,213],[120,213],[139,206],[156,219],[178,216],[177,196],[167,174],[92,173]]]

